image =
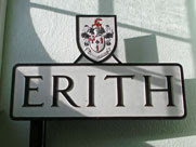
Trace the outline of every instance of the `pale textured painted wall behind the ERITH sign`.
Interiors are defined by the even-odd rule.
[[[9,118],[12,67],[17,63],[73,63],[77,14],[116,14],[123,63],[180,63],[184,120],[49,121],[47,147],[195,147],[196,2],[194,0],[9,0],[1,80],[0,144],[27,147],[29,122]]]

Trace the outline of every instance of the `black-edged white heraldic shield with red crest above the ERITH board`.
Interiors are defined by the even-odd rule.
[[[117,45],[116,15],[77,15],[77,43],[92,62],[104,62]]]

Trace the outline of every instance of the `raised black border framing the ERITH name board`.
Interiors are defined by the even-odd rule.
[[[160,116],[148,116],[148,117],[14,117],[13,111],[14,111],[14,90],[15,90],[15,72],[17,67],[29,67],[29,66],[178,66],[180,68],[181,72],[181,85],[182,85],[182,101],[183,101],[183,109],[184,109],[184,115],[183,116],[177,116],[177,117],[171,117],[171,116],[166,116],[166,117],[160,117]],[[13,79],[12,79],[12,96],[11,96],[11,111],[10,116],[13,120],[34,120],[34,119],[39,119],[39,120],[53,120],[53,119],[182,119],[186,116],[186,106],[185,106],[185,91],[184,91],[184,79],[183,79],[183,69],[182,66],[179,64],[18,64],[14,67],[13,70]]]

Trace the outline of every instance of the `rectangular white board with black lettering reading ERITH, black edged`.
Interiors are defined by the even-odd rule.
[[[26,119],[183,118],[178,64],[21,64],[11,117]]]

